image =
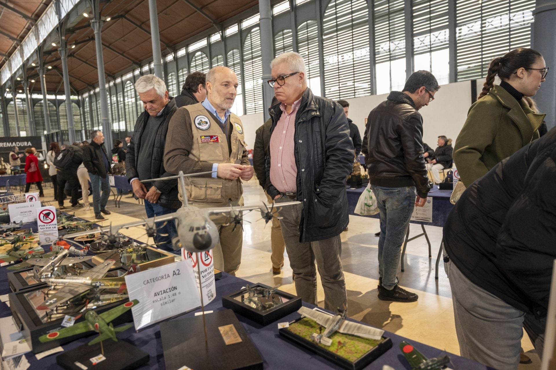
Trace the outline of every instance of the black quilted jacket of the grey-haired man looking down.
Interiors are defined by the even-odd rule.
[[[164,168],[164,146],[166,145],[166,133],[168,132],[168,123],[170,118],[177,111],[176,102],[171,99],[162,111],[164,117],[160,126],[156,131],[155,145],[153,148],[144,148],[143,150],[151,150],[151,178],[173,176],[173,173],[167,172]],[[127,181],[130,181],[137,175],[137,158],[141,150],[141,135],[148,120],[147,111],[143,111],[135,122],[135,131],[133,131],[133,138],[127,146],[126,153],[126,175]],[[162,194],[158,198],[158,204],[162,207],[178,209],[181,207],[180,199],[178,199],[177,179],[160,180],[152,183]],[[148,184],[147,188],[149,187]]]

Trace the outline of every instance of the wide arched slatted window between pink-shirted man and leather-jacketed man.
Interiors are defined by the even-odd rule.
[[[331,0],[322,18],[324,91],[330,99],[371,94],[366,0]]]

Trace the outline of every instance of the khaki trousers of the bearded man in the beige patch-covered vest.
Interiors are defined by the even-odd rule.
[[[214,203],[189,203],[197,208],[212,208]],[[243,206],[243,197],[237,202],[229,202],[227,204],[219,204],[219,207],[241,207]],[[214,268],[225,271],[231,275],[236,274],[241,263],[241,248],[243,246],[243,229],[242,224],[234,224],[234,218],[225,214],[214,214],[210,217],[215,223],[220,234],[220,242],[212,249],[214,258]],[[235,229],[234,229],[235,228]]]

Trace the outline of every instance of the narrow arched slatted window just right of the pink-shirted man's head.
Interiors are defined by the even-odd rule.
[[[307,21],[297,27],[297,51],[305,59],[307,84],[316,96],[322,96],[320,87],[319,34],[316,21]]]

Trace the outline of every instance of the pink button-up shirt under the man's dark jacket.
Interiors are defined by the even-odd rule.
[[[270,137],[270,182],[282,193],[296,192],[295,179],[295,115],[301,105],[301,98],[286,112],[286,104],[280,104],[282,115]]]

